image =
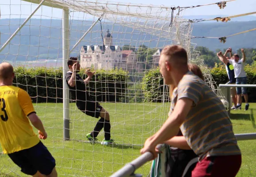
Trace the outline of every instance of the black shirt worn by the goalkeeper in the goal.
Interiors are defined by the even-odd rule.
[[[72,98],[75,98],[76,104],[78,108],[80,107],[82,109],[85,108],[85,101],[89,99],[89,94],[86,92],[86,86],[84,80],[80,77],[80,75],[76,74],[76,85],[74,87],[71,87],[68,84],[68,81],[70,80],[70,77],[72,76],[72,72],[69,71],[66,73],[65,79],[66,83],[70,89],[70,93]]]

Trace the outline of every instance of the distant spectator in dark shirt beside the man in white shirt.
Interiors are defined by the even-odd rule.
[[[226,57],[226,55],[229,53],[229,57]],[[229,48],[224,56],[227,58],[227,59],[231,59],[232,60],[232,49]],[[235,78],[235,73],[234,73],[234,67],[233,65],[231,65],[230,63],[227,63],[227,65],[225,65],[225,68],[226,68],[226,71],[227,71],[227,74],[228,74],[228,77],[229,77],[229,82],[227,84],[236,84],[236,78]],[[232,102],[233,102],[233,106],[231,109],[235,109],[236,106],[237,106],[237,91],[236,91],[236,88],[235,87],[231,87],[230,88],[230,96],[232,98]]]

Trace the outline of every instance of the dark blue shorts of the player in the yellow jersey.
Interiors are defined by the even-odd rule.
[[[43,175],[50,175],[55,167],[55,159],[47,147],[40,141],[37,145],[8,154],[12,161],[27,175],[35,175],[39,171]]]

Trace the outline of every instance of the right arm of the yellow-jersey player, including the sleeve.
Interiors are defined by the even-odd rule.
[[[22,108],[25,115],[27,115],[31,124],[39,130],[39,137],[42,139],[47,138],[47,133],[43,127],[42,121],[36,115],[30,96],[23,89],[19,89],[18,92],[19,105]]]

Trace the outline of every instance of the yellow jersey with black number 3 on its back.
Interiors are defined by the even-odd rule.
[[[4,154],[28,149],[39,143],[28,115],[35,113],[30,96],[15,86],[0,86],[0,143]]]

